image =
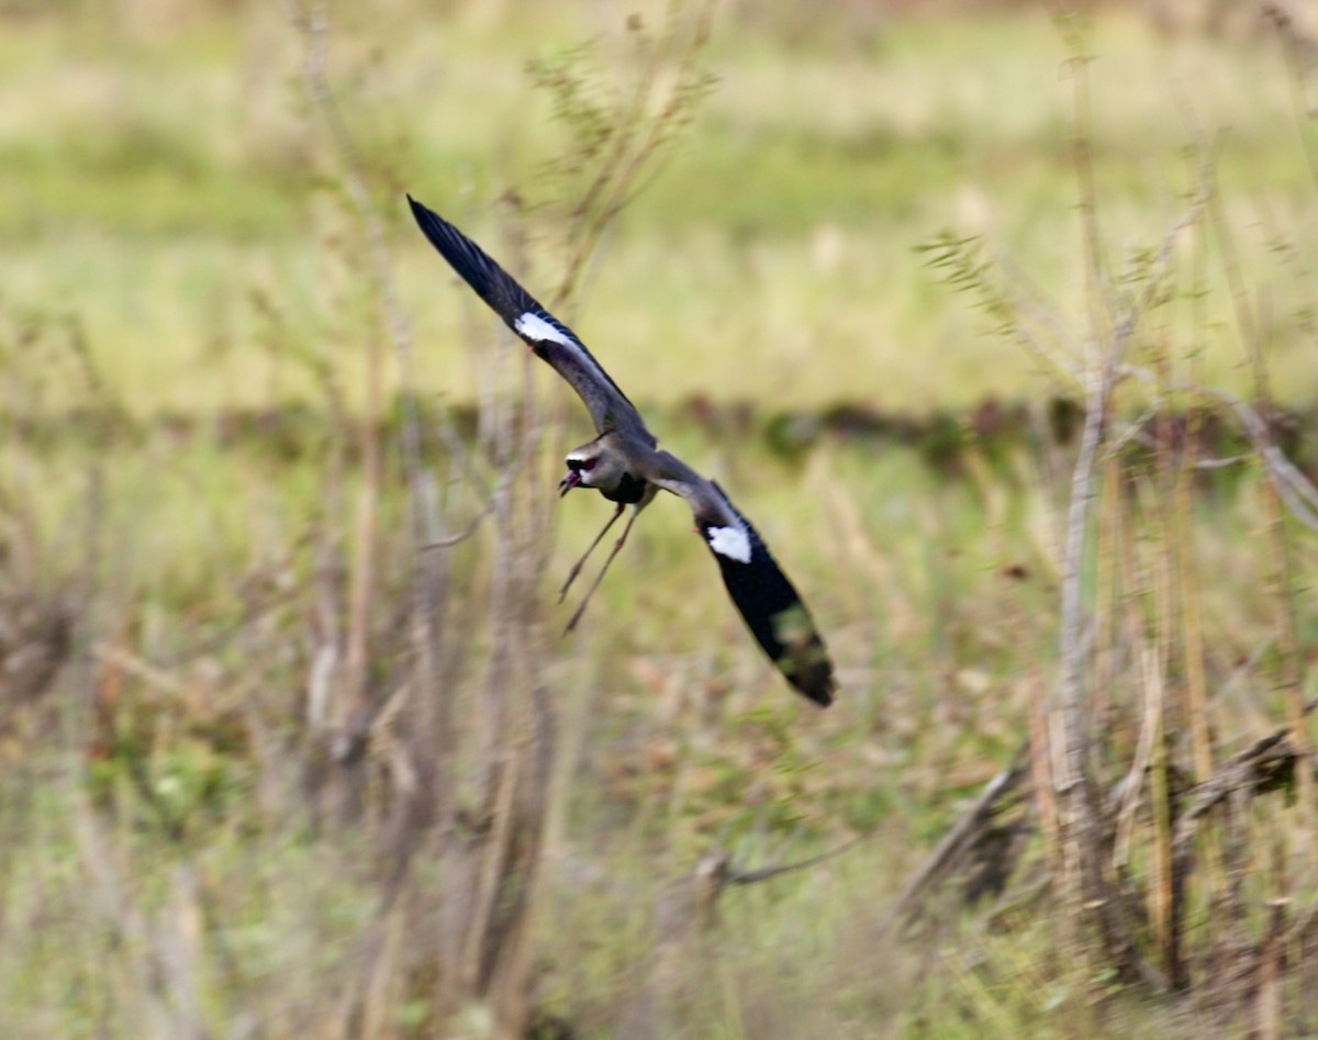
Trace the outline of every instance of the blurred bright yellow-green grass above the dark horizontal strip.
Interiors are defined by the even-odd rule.
[[[492,250],[490,200],[543,191],[564,146],[525,63],[592,36],[616,71],[626,63],[621,16],[538,11],[362,21],[347,8],[335,34],[347,42],[330,51],[360,148],[389,152],[399,188]],[[986,337],[912,250],[948,227],[982,235],[1078,312],[1070,83],[1046,20],[894,20],[863,46],[738,28],[716,37],[718,86],[606,244],[577,320],[619,384],[642,402],[702,393],[915,411],[1037,393],[1031,364]],[[1155,243],[1178,215],[1193,111],[1224,130],[1219,177],[1247,273],[1275,285],[1278,314],[1301,306],[1269,252],[1313,237],[1276,54],[1168,43],[1122,17],[1101,22],[1094,51],[1095,181],[1115,248]],[[86,12],[21,22],[0,69],[5,299],[82,315],[140,413],[306,397],[306,378],[270,373],[248,299],[274,287],[297,299],[290,320],[316,347],[316,316],[335,303],[318,250],[347,229],[318,206],[319,138],[298,100],[295,40],[273,12],[136,34]],[[452,347],[469,302],[435,291],[447,270],[401,192],[385,203],[420,388],[471,399],[472,365]],[[547,289],[554,244],[535,256],[529,281]],[[1227,302],[1213,294],[1211,320],[1230,324]],[[219,343],[223,374],[206,365]],[[1307,348],[1271,345],[1278,388],[1310,398]],[[335,349],[357,384],[361,352]],[[1207,378],[1243,385],[1228,336],[1205,357]]]

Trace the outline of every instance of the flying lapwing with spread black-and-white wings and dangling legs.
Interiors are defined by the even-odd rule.
[[[604,530],[572,567],[559,601],[580,573],[587,558],[609,527],[631,506],[631,515],[580,606],[568,621],[571,631],[581,617],[604,572],[618,555],[631,525],[663,488],[685,500],[696,530],[714,554],[724,584],[741,610],[755,641],[796,689],[820,705],[833,701],[833,664],[809,610],[801,602],[759,534],[713,481],[666,451],[646,428],[641,414],[600,366],[585,344],[565,324],[519,286],[471,239],[443,217],[407,196],[422,232],[467,283],[521,336],[538,357],[548,361],[585,402],[598,436],[567,455],[568,472],[559,481],[567,494],[573,488],[594,488],[617,504]]]

